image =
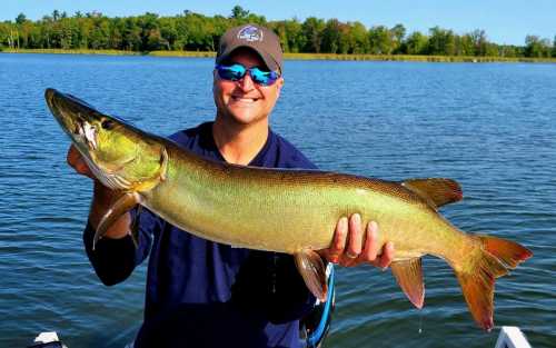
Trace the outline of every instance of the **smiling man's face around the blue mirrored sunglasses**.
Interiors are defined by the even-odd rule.
[[[247,69],[265,68],[260,57],[250,49],[236,50],[229,63],[239,63]],[[251,125],[266,120],[280,96],[284,79],[280,77],[271,86],[255,83],[249,73],[239,81],[227,81],[214,72],[212,93],[219,117],[241,125]]]

